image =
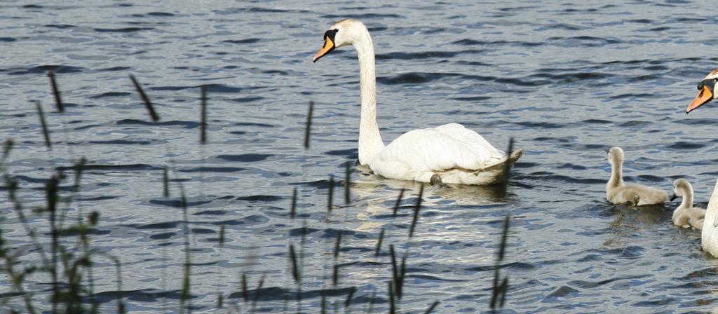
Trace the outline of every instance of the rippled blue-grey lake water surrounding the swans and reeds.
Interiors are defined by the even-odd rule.
[[[70,221],[99,211],[92,247],[121,260],[118,291],[111,260],[95,257],[103,310],[115,309],[117,298],[132,312],[177,310],[185,262],[180,185],[190,205],[195,311],[214,310],[218,294],[220,311],[248,310],[245,273],[251,295],[264,280],[258,311],[296,312],[289,244],[304,255],[304,313],[318,313],[322,294],[330,308],[342,308],[350,287],[356,313],[372,302],[386,312],[389,244],[408,254],[402,311],[423,313],[434,300],[437,313],[485,311],[505,214],[512,215],[502,268],[506,312],[710,310],[718,265],[701,252],[700,233],[673,227],[677,203],[639,211],[608,205],[604,149],[624,148],[626,181],[669,191],[685,177],[705,206],[718,175],[718,113],[711,104],[687,116],[684,109],[716,66],[718,19],[703,1],[579,3],[0,2],[0,130],[16,143],[8,171],[31,210],[45,204],[42,186],[55,168],[88,159],[75,201],[62,206]],[[373,36],[384,140],[451,122],[502,149],[513,136],[524,155],[505,193],[429,186],[411,239],[417,184],[358,171],[345,204],[343,165],[357,158],[356,53],[345,47],[311,60],[325,29],[344,17],[365,22]],[[53,107],[47,70],[57,73],[64,114]],[[156,104],[158,123],[130,73]],[[210,98],[205,146],[200,85]],[[44,105],[51,150],[32,100]],[[169,197],[162,195],[166,166]],[[330,174],[338,188],[327,213]],[[63,196],[73,195],[71,181]],[[405,201],[392,217],[400,189]],[[3,196],[0,204],[12,251],[24,265],[42,265],[11,201]],[[31,224],[47,244],[46,215]],[[62,240],[74,247],[76,238]],[[50,278],[26,282],[39,308],[50,308]],[[5,306],[22,308],[5,273],[0,285]]]

